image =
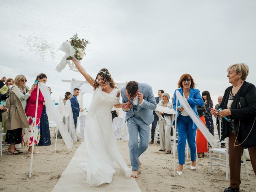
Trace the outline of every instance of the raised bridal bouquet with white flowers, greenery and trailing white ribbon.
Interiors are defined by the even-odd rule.
[[[64,55],[60,63],[56,66],[56,71],[58,72],[61,72],[67,64],[70,67],[70,70],[78,71],[76,70],[74,63],[71,63],[70,60],[74,58],[79,61],[84,58],[84,50],[86,49],[87,44],[89,44],[89,41],[86,39],[81,40],[80,38],[78,38],[77,34],[75,34],[70,39],[71,41],[67,40],[63,42],[59,48],[59,50],[62,50],[66,54]]]

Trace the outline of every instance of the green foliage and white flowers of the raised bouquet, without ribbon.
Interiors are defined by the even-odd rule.
[[[78,60],[82,60],[84,55],[86,55],[84,50],[86,49],[87,44],[89,44],[89,41],[86,39],[81,40],[80,38],[78,38],[77,33],[70,39],[71,39],[71,41],[69,41],[69,40],[67,40],[67,41],[76,50],[76,54],[74,55],[75,58],[77,58]],[[71,59],[72,59],[72,57],[67,58],[67,60],[71,60]]]

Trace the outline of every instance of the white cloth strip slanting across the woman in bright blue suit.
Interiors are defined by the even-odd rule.
[[[194,110],[190,107],[187,100],[180,94],[179,91],[176,90],[176,96],[184,108],[184,110],[188,113],[190,118],[193,120],[194,124],[196,124],[197,128],[202,132],[206,140],[209,142],[209,144],[214,148],[215,146],[218,146],[217,141],[214,139],[214,136],[209,132],[208,128],[205,126],[205,124],[200,120],[200,118],[196,115]]]

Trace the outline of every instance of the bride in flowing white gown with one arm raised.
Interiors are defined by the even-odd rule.
[[[128,168],[118,151],[112,130],[112,107],[122,108],[123,106],[119,102],[120,91],[106,68],[101,69],[94,80],[79,62],[75,59],[72,61],[95,90],[84,130],[86,162],[80,163],[79,167],[87,172],[87,182],[90,186],[111,183],[116,165],[122,168],[126,177],[129,178],[132,170]]]

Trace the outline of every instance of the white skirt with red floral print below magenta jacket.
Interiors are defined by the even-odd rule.
[[[36,125],[35,125],[35,118],[31,116],[28,117],[28,128],[22,128],[21,133],[21,145],[23,148],[28,146],[32,146],[33,138],[34,144],[36,145],[40,140],[40,118],[36,118]],[[34,127],[34,129],[33,129]]]

